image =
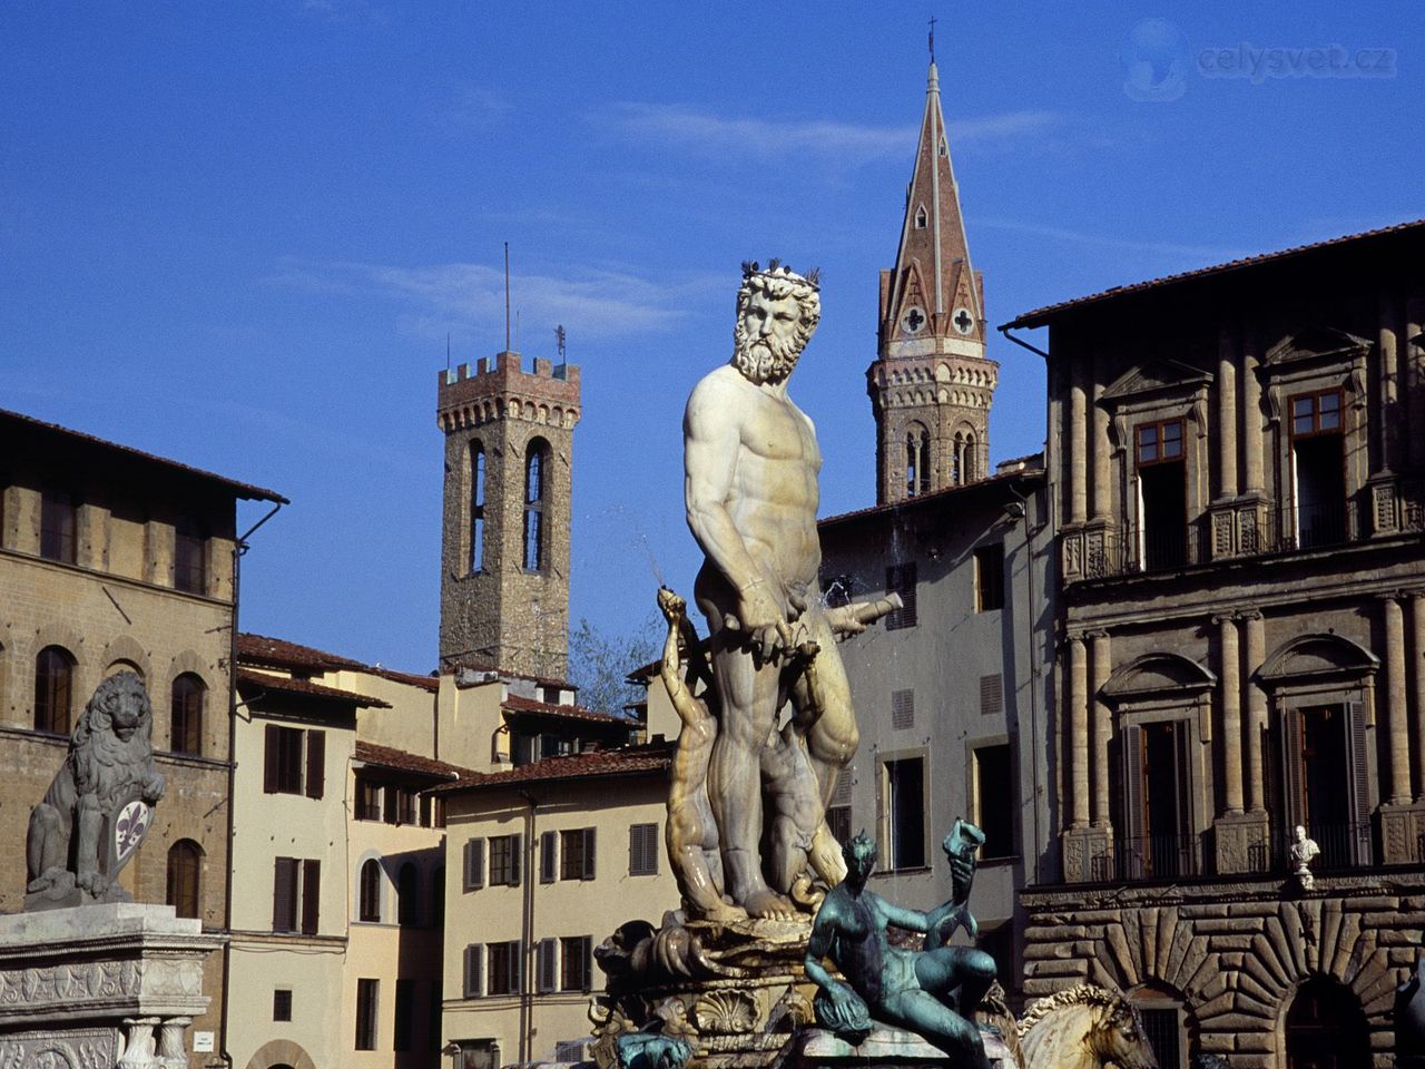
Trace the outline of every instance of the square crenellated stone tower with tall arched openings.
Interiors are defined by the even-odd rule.
[[[569,522],[579,368],[517,352],[437,378],[446,436],[440,667],[569,671]]]

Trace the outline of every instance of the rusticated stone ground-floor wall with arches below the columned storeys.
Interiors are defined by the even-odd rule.
[[[1425,936],[1418,872],[1324,877],[1308,894],[1277,879],[1196,887],[1033,891],[1025,992],[1090,982],[1183,1001],[1194,1052],[1234,1069],[1285,1069],[1284,1021],[1312,976],[1344,985],[1369,1026],[1378,1069],[1394,1063],[1389,1013]]]

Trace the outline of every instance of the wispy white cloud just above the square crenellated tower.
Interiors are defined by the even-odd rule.
[[[284,261],[269,284],[323,294],[379,296],[402,306],[418,334],[440,336],[450,326],[492,331],[504,324],[504,272],[484,264],[314,264]],[[690,294],[711,279],[657,281],[626,271],[576,268],[566,275],[512,277],[513,311],[522,329],[564,324],[584,338],[614,338],[671,329],[687,315]]]

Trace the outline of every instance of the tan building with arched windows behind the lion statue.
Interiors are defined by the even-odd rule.
[[[127,668],[168,785],[120,881],[227,929],[237,502],[285,499],[14,412],[0,412],[0,911],[23,907],[28,814],[84,704]],[[212,1002],[192,1029],[219,1048],[222,959],[205,962]]]

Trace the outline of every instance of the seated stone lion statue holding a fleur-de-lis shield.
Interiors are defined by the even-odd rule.
[[[104,830],[130,802],[154,805],[162,797],[152,731],[154,707],[138,676],[120,671],[98,684],[70,737],[64,765],[30,812],[27,908],[130,901],[115,877],[137,849],[150,814],[131,812],[128,827],[110,828],[108,838],[123,840],[117,848]]]

